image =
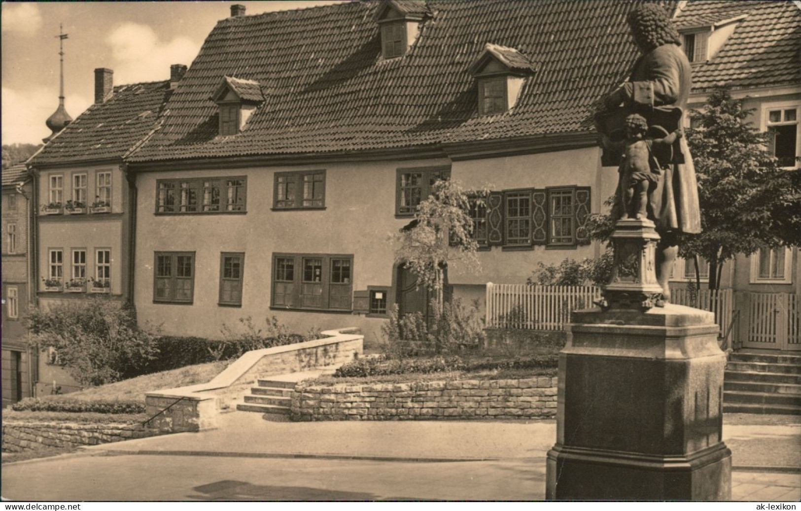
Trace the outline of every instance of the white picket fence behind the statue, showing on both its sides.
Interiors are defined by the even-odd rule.
[[[720,336],[727,333],[734,312],[731,289],[701,290],[697,300],[686,289],[671,289],[673,303],[714,312]],[[562,330],[570,323],[570,312],[590,308],[601,298],[595,286],[541,286],[493,284],[486,286],[486,324],[489,328]]]

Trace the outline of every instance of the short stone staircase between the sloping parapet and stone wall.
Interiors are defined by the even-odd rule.
[[[258,386],[251,388],[251,392],[244,396],[244,403],[237,404],[236,409],[239,412],[263,413],[265,420],[287,421],[289,420],[292,390],[299,381],[316,378],[323,372],[292,372],[260,378],[257,380]]]

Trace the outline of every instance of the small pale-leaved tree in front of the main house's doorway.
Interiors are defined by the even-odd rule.
[[[439,309],[445,303],[445,268],[465,264],[478,270],[478,242],[473,236],[473,207],[485,207],[486,190],[465,190],[461,184],[441,180],[417,207],[414,219],[394,235],[395,261],[405,264],[418,282],[433,293]]]

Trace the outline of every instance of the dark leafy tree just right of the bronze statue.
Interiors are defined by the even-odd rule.
[[[693,129],[686,138],[703,230],[682,237],[680,255],[708,262],[710,289],[719,287],[723,264],[735,255],[801,244],[799,171],[779,167],[767,151],[769,134],[747,122],[750,114],[727,88],[712,91],[690,114]]]

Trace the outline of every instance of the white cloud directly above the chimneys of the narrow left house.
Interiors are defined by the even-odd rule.
[[[171,64],[188,66],[200,50],[199,44],[186,37],[159,41],[150,26],[136,23],[119,26],[106,41],[115,61],[116,84],[166,80]]]

